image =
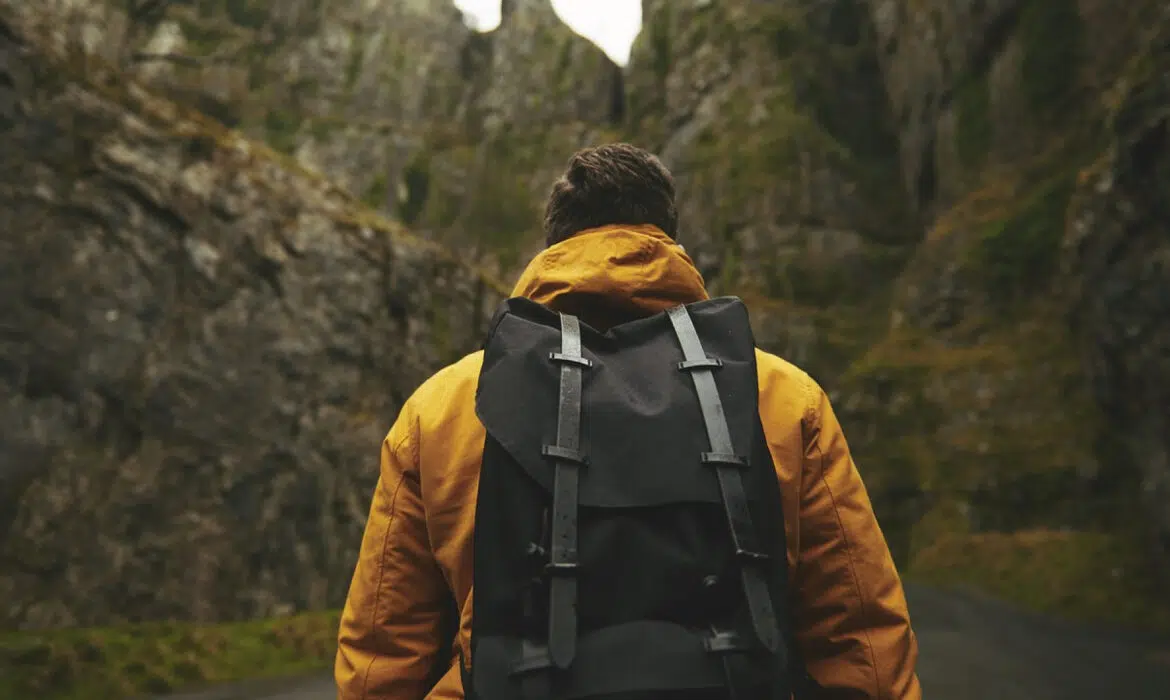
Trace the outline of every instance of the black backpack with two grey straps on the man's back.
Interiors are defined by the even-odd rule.
[[[476,412],[468,700],[805,694],[739,300],[605,332],[508,300]]]

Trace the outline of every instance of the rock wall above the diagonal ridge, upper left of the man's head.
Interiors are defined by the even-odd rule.
[[[552,170],[622,115],[618,67],[541,0],[487,34],[450,0],[7,4],[422,234],[466,243],[464,220],[495,219],[481,254],[539,240]]]

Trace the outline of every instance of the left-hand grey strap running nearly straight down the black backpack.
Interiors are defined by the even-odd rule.
[[[549,659],[567,668],[577,653],[577,492],[580,453],[581,375],[593,363],[581,356],[580,324],[560,314],[560,352],[549,359],[560,364],[560,400],[557,409],[557,444],[542,448],[555,465],[552,479],[551,551],[548,571]]]

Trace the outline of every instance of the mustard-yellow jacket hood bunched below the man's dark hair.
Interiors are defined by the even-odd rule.
[[[529,262],[512,296],[598,329],[708,298],[690,256],[655,226],[604,226],[560,241]]]

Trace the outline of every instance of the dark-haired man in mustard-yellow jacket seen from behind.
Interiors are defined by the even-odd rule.
[[[559,335],[556,328],[541,325],[545,321],[553,324],[556,314],[519,301],[510,307],[514,314],[497,316],[495,325],[508,325],[512,323],[509,318],[521,318],[529,328],[539,329],[539,332],[551,338],[548,342],[570,337],[579,341],[584,337],[585,350],[573,350],[573,341],[565,339],[565,354],[544,354],[552,361],[567,361],[557,366],[572,368],[574,362],[584,365],[585,369],[579,370],[581,373],[592,371],[590,365],[603,362],[599,343],[604,344],[604,338],[615,342],[614,337],[628,336],[600,335],[606,329],[617,329],[614,332],[618,332],[627,327],[648,329],[652,324],[658,324],[653,327],[656,329],[653,332],[667,334],[670,325],[666,317],[669,314],[680,343],[684,344],[683,334],[690,325],[688,317],[695,321],[694,325],[700,327],[698,335],[702,336],[703,323],[707,323],[704,315],[722,311],[710,306],[716,301],[704,301],[708,295],[701,275],[682,247],[674,241],[677,229],[674,197],[669,172],[655,157],[640,149],[611,144],[585,149],[574,155],[549,197],[544,220],[548,247],[530,262],[512,295],[522,297],[519,301],[531,300],[559,313],[560,332],[564,335]],[[689,316],[683,313],[680,317],[677,309],[683,304],[686,307],[682,308],[689,308],[691,313]],[[542,313],[551,316],[542,321]],[[734,313],[734,309],[729,313]],[[566,324],[573,318],[580,320],[579,328]],[[579,335],[570,336],[570,332]],[[649,330],[645,334],[653,335]],[[710,334],[703,338],[704,343],[710,341],[709,336]],[[750,338],[750,332],[746,337]],[[495,423],[491,421],[501,420],[500,411],[493,413],[493,398],[477,397],[477,389],[483,380],[481,372],[484,377],[488,376],[486,362],[504,368],[509,362],[508,352],[493,355],[493,342],[488,344],[487,361],[483,351],[475,352],[441,370],[419,387],[402,407],[383,442],[380,479],[342,617],[336,663],[339,700],[462,698],[464,680],[476,678],[479,667],[491,663],[488,658],[490,654],[480,653],[473,640],[473,637],[481,636],[481,631],[476,630],[477,620],[473,616],[473,582],[480,581],[480,572],[473,572],[472,563],[473,553],[480,553],[474,557],[479,568],[500,567],[494,557],[480,560],[483,551],[488,551],[480,548],[493,545],[484,542],[488,536],[480,540],[473,537],[477,517],[477,493],[487,487],[481,485],[481,467],[487,468],[486,449],[497,445],[495,438],[500,438],[494,434]],[[709,368],[721,363],[702,357],[702,349],[695,350],[696,345],[693,343],[691,348],[697,355],[688,355],[687,362],[677,362],[681,356],[673,359],[665,357],[662,366],[669,365],[673,371],[674,365],[679,364],[680,370],[698,370],[695,375],[714,372]],[[674,345],[674,352],[677,346]],[[791,656],[803,657],[807,674],[819,686],[811,696],[918,700],[921,689],[915,673],[917,643],[910,629],[902,586],[828,399],[813,379],[799,369],[773,355],[755,350],[751,344],[748,348],[748,352],[753,352],[755,357],[749,358],[751,362],[739,364],[755,364],[752,371],[756,376],[749,393],[756,394],[758,389],[758,399],[752,397],[751,410],[757,412],[758,406],[756,424],[763,430],[757,432],[762,432],[764,461],[770,462],[769,478],[778,486],[777,513],[783,514],[779,516],[783,517],[783,527],[777,527],[775,533],[763,531],[757,535],[780,542],[782,551],[786,553],[786,557],[779,557],[779,570],[785,571],[783,576],[787,581],[773,581],[780,589],[771,589],[776,610],[769,610],[768,615],[782,620],[782,627],[785,627],[783,620],[791,617],[785,630],[793,647]],[[519,350],[511,355],[517,352]],[[593,359],[581,357],[583,352]],[[543,358],[544,355],[539,357]],[[572,376],[569,369],[549,371],[563,372],[563,379]],[[738,370],[730,368],[728,371]],[[577,375],[579,376],[580,373]],[[589,382],[586,379],[584,391],[586,402],[591,392],[603,391],[601,379],[592,379],[593,384]],[[683,379],[679,382],[673,390],[675,397],[683,396],[677,387],[690,386],[683,384]],[[555,380],[552,385],[555,386]],[[721,389],[727,385],[724,382]],[[592,389],[593,386],[598,389]],[[654,387],[631,386],[629,391],[645,393],[653,392]],[[694,387],[688,391],[689,397],[681,403],[688,404],[686,411],[694,418],[698,411],[698,402],[695,402],[694,394],[700,392],[700,382],[696,379]],[[507,400],[512,402],[522,413],[524,406],[530,404],[553,406],[557,400],[555,393],[555,389],[553,396],[516,389],[515,396]],[[744,393],[739,391],[738,396]],[[562,402],[565,396],[562,390]],[[620,397],[614,398],[615,396],[610,394],[610,398],[619,400]],[[723,399],[729,406],[727,416],[732,416],[736,398],[724,396]],[[497,400],[496,405],[504,404]],[[586,420],[590,410],[590,404],[586,403]],[[659,407],[647,409],[647,412],[658,410]],[[528,423],[543,420],[542,425],[552,425],[548,421],[557,418],[553,416],[545,420],[539,416],[542,409],[535,411],[537,412],[525,419]],[[556,414],[557,410],[552,409],[551,412]],[[718,412],[724,411],[720,409]],[[490,416],[491,434],[484,428],[482,416]],[[563,417],[562,410],[560,418]],[[703,406],[703,417],[711,417],[707,406]],[[597,413],[593,420],[591,430],[596,430],[596,424],[600,420]],[[563,424],[557,425],[563,427]],[[631,425],[631,431],[641,430],[639,424]],[[735,433],[741,427],[738,424],[732,425],[731,432]],[[715,448],[716,435],[710,430],[714,428],[709,428],[708,433],[711,435],[711,448],[710,453],[704,453],[704,461],[711,453],[720,452]],[[744,430],[750,433],[750,425]],[[558,427],[553,432],[562,431]],[[695,440],[707,439],[701,427],[691,425],[679,426],[675,434],[679,441],[691,440],[695,434],[698,435]],[[638,435],[626,435],[622,439],[634,440],[626,444],[636,445]],[[504,438],[500,440],[505,441]],[[571,447],[574,442],[566,445]],[[703,449],[708,449],[706,442],[703,445]],[[599,445],[592,447],[600,452],[607,448]],[[669,447],[666,442],[661,446],[662,449]],[[571,455],[566,454],[572,449],[556,446],[545,448],[549,449],[546,454],[552,455],[559,474],[563,460],[570,459]],[[601,458],[604,459],[604,454]],[[715,458],[713,460],[721,461]],[[698,459],[695,458],[694,461],[697,465]],[[758,461],[755,460],[753,464]],[[585,476],[581,479],[589,479],[590,469],[603,466],[598,464],[585,467]],[[722,476],[721,472],[721,479]],[[559,489],[559,483],[553,488]],[[763,497],[759,493],[750,493],[752,499]],[[580,494],[584,506],[585,490]],[[479,493],[479,497],[487,496]],[[552,506],[553,509],[559,507]],[[501,509],[498,505],[483,502],[481,516],[483,508],[491,508],[497,515]],[[576,510],[570,515],[573,513]],[[762,512],[753,513],[758,515]],[[734,520],[730,507],[728,514],[729,520]],[[756,522],[758,526],[762,521]],[[727,533],[720,536],[725,537]],[[581,537],[586,535],[581,534]],[[544,554],[536,544],[532,547]],[[583,540],[583,558],[603,556],[597,553],[589,555],[585,549]],[[749,564],[742,567],[746,571]],[[714,581],[716,577],[708,578]],[[744,574],[744,581],[748,575]],[[709,582],[704,579],[704,583]],[[581,585],[587,589],[584,579]],[[687,583],[680,579],[679,585],[684,586]],[[636,586],[628,588],[628,595],[636,595],[634,588]],[[775,592],[782,589],[791,591],[787,599],[784,593]],[[488,592],[482,583],[479,590],[479,598],[487,599]],[[728,590],[731,591],[728,595],[732,595],[738,588],[731,586]],[[589,613],[589,595],[593,593],[583,590],[578,601],[583,619],[580,634],[585,634],[584,626],[587,625],[585,617]],[[553,593],[549,596],[555,597]],[[460,611],[460,624],[454,645],[457,656],[447,665],[447,650],[440,648],[445,645],[440,627],[442,611],[452,598]],[[496,596],[493,598],[493,608],[484,608],[481,617],[493,613],[495,618],[503,619],[496,606],[508,599],[507,596]],[[549,604],[542,605],[548,609]],[[789,608],[784,609],[784,605]],[[755,613],[755,610],[751,612]],[[549,633],[548,639],[556,636],[553,632],[555,630]],[[731,638],[734,636],[724,636],[723,640]],[[585,637],[580,639],[583,641],[576,646],[578,661],[586,654],[583,650],[587,644],[584,641]],[[709,643],[710,639],[704,641],[708,651],[718,646]],[[654,647],[656,644],[656,639],[645,639],[641,647]],[[666,641],[662,645],[668,646]],[[551,647],[550,644],[548,650]],[[770,648],[776,648],[776,645]],[[556,656],[548,650],[541,657],[545,667],[550,666],[549,656]],[[784,656],[783,651],[779,653]],[[562,656],[565,653],[562,652]],[[571,667],[566,666],[567,660],[563,661],[553,659],[551,665],[558,668]],[[620,663],[621,659],[617,661]],[[442,674],[435,684],[432,672],[436,664]],[[631,664],[636,665],[634,661]],[[797,665],[793,664],[793,667]],[[682,673],[687,670],[679,667],[674,671]],[[469,682],[473,682],[477,694],[482,694],[479,693],[479,681]],[[486,682],[490,685],[491,681]],[[435,685],[432,687],[432,684]],[[800,691],[799,682],[793,680],[793,686]],[[538,695],[539,691],[534,696]],[[787,692],[783,695],[786,696]],[[666,696],[672,695],[668,693]]]

